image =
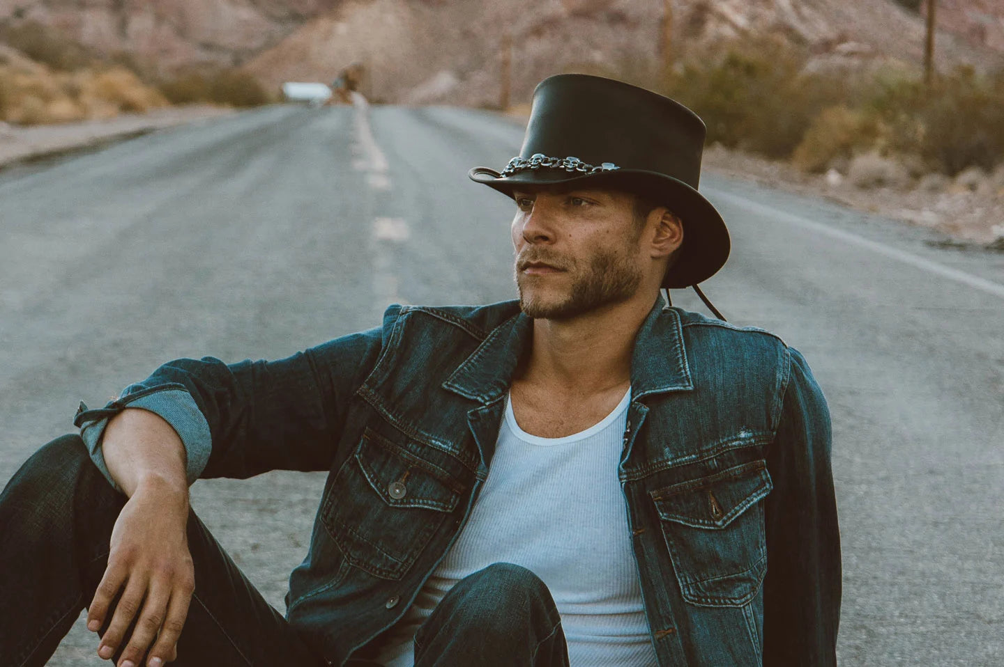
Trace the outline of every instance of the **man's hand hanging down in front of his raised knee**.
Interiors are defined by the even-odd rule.
[[[188,548],[188,488],[151,476],[137,486],[111,530],[108,566],[87,610],[87,629],[96,632],[122,588],[111,623],[97,655],[108,659],[129,642],[118,667],[138,667],[147,648],[150,667],[178,657],[189,602],[195,590],[195,568]],[[124,637],[133,619],[132,637]]]

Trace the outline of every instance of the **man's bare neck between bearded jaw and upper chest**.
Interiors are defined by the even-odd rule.
[[[520,380],[564,395],[626,386],[635,337],[652,305],[633,299],[570,320],[534,320],[532,349]]]

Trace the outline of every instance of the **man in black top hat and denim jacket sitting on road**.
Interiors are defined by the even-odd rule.
[[[729,254],[703,141],[662,95],[547,78],[521,155],[471,172],[517,205],[517,301],[81,404],[0,496],[0,662],[87,606],[124,666],[835,664],[823,394],[777,336],[660,295]],[[286,617],[188,507],[270,469],[329,472]]]

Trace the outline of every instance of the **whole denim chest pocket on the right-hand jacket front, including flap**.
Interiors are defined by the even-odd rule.
[[[681,593],[688,602],[742,606],[767,572],[764,460],[651,491]]]

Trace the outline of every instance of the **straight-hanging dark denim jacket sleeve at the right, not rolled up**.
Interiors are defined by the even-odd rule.
[[[763,664],[836,665],[840,533],[830,465],[831,424],[802,354],[790,364],[778,428],[767,451]]]

